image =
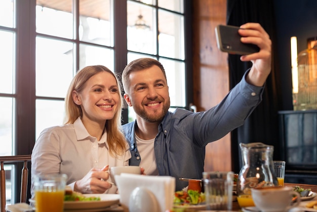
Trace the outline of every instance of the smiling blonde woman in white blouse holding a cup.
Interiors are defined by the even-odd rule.
[[[34,145],[32,176],[65,173],[74,191],[115,193],[108,169],[128,165],[131,158],[121,132],[121,108],[120,85],[111,70],[83,68],[67,92],[65,125],[43,130]]]

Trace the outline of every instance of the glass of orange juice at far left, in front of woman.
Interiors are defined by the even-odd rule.
[[[43,174],[34,178],[35,211],[63,212],[66,174]]]

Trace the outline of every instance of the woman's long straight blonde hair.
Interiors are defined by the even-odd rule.
[[[65,113],[66,113],[66,122],[65,124],[73,124],[78,117],[83,116],[83,112],[80,105],[77,105],[72,99],[72,92],[77,91],[81,93],[85,87],[85,83],[94,75],[107,72],[110,73],[115,81],[118,88],[118,95],[120,96],[117,111],[115,112],[112,119],[107,120],[105,124],[105,129],[107,131],[107,142],[109,145],[109,153],[111,156],[123,155],[126,150],[126,139],[122,133],[121,128],[121,114],[122,114],[122,97],[121,97],[121,86],[111,70],[103,65],[91,65],[86,66],[80,70],[75,77],[72,79],[67,95],[65,98]]]

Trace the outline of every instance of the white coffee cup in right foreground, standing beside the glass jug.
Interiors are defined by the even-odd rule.
[[[251,189],[251,194],[255,206],[262,212],[287,211],[300,203],[300,194],[288,186]],[[294,195],[297,198],[296,202],[292,203]]]

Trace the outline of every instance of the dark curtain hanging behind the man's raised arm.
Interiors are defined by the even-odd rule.
[[[263,100],[246,120],[245,124],[231,132],[232,167],[239,173],[242,166],[240,143],[261,142],[274,146],[274,159],[279,158],[279,88],[280,76],[275,67],[278,55],[275,45],[274,0],[227,0],[227,24],[240,26],[247,22],[258,22],[267,31],[272,40],[272,69],[263,93]],[[251,67],[251,62],[241,62],[239,55],[228,56],[230,88],[234,87]]]

